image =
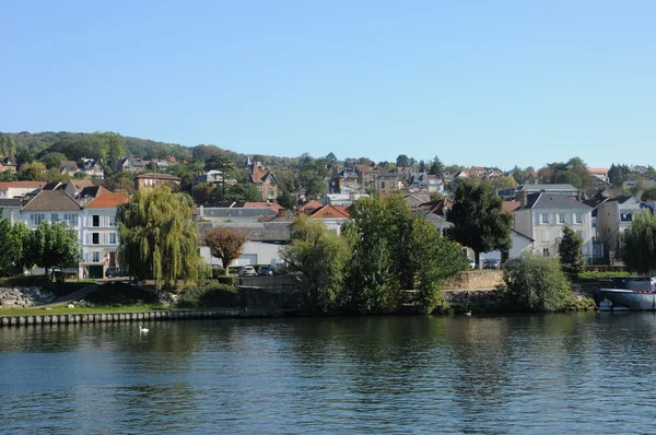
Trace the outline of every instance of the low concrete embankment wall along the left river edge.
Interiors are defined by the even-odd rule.
[[[54,314],[36,316],[0,316],[0,327],[19,327],[30,325],[74,325],[101,322],[137,322],[149,320],[192,320],[192,319],[223,319],[253,317],[241,308],[226,309],[189,309],[174,311],[142,311],[142,313],[106,313],[106,314]]]

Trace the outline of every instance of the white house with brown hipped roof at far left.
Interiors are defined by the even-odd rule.
[[[42,222],[65,222],[82,239],[82,216],[84,210],[62,189],[40,190],[21,209],[21,219],[30,230],[36,230]],[[78,267],[80,275],[81,268]]]

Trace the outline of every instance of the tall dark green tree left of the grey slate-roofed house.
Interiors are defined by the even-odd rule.
[[[513,215],[503,211],[502,199],[487,183],[460,183],[446,219],[454,224],[447,231],[448,236],[473,249],[479,267],[481,252],[504,251],[512,247]]]

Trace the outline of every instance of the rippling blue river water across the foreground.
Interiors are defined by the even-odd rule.
[[[655,432],[656,317],[0,329],[1,433]]]

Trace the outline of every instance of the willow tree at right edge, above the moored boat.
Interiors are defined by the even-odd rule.
[[[622,260],[630,270],[648,273],[656,269],[656,215],[637,213],[622,235]]]

